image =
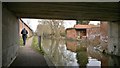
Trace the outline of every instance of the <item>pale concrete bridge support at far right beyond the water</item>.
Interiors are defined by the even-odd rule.
[[[108,53],[120,56],[120,23],[110,22],[108,30]]]

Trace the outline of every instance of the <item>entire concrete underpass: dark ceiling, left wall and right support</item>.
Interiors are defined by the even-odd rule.
[[[120,56],[119,3],[3,2],[2,6],[2,66],[17,55],[19,18],[109,21],[108,53]]]

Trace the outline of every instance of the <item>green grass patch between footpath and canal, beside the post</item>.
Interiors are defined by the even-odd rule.
[[[44,54],[41,46],[38,45],[38,37],[37,37],[37,36],[34,36],[34,37],[33,37],[33,41],[32,41],[32,46],[31,46],[31,48],[32,48],[33,50],[35,50],[36,52],[38,52],[38,53]]]

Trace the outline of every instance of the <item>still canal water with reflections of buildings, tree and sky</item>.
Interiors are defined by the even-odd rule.
[[[120,65],[120,57],[103,54],[87,42],[43,39],[41,46],[54,66],[107,68]]]

